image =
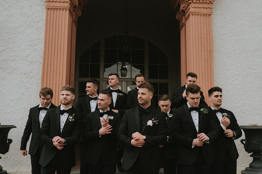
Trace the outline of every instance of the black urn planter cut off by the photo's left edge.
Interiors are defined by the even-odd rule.
[[[1,123],[0,123],[1,124]],[[12,139],[7,139],[9,130],[16,128],[14,125],[0,125],[0,154],[6,154],[9,151]],[[1,157],[0,157],[1,159]],[[0,174],[7,174],[6,170],[0,165]]]

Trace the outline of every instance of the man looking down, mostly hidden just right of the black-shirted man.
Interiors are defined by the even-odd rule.
[[[159,96],[158,105],[162,112],[165,113],[167,127],[170,125],[174,112],[170,109],[171,102],[167,94]],[[167,130],[172,128],[167,128]],[[170,141],[171,135],[167,133],[166,143],[160,145],[161,155],[164,165],[165,174],[176,174],[176,166],[178,163],[179,146],[177,141]],[[171,138],[172,139],[172,138]]]

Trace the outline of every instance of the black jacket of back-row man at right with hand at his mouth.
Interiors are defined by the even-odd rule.
[[[174,89],[174,92],[172,94],[172,97],[170,99],[170,101],[172,102],[170,108],[178,108],[183,106],[185,103],[187,103],[187,99],[183,98],[183,92],[185,91],[185,85],[178,87],[176,89]],[[205,97],[203,95],[203,92],[200,91],[200,105],[204,105],[204,106],[208,106],[205,102]]]

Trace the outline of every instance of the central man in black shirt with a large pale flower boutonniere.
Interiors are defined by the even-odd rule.
[[[167,122],[163,112],[151,105],[154,87],[148,82],[138,87],[139,106],[125,111],[118,130],[124,146],[125,173],[159,173],[163,167],[161,150],[167,139]]]

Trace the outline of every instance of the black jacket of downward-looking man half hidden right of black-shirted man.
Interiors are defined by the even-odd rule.
[[[169,114],[173,114],[174,116],[174,112],[173,110],[170,110]],[[172,141],[172,135],[171,135],[171,130],[172,130],[172,124],[170,124],[171,120],[173,119],[173,117],[170,117],[168,119],[167,122],[167,135],[169,137],[169,142],[166,142],[164,145],[164,147],[161,149],[161,151],[163,153],[165,153],[167,159],[176,159],[178,160],[178,156],[179,156],[179,143],[177,141]]]

